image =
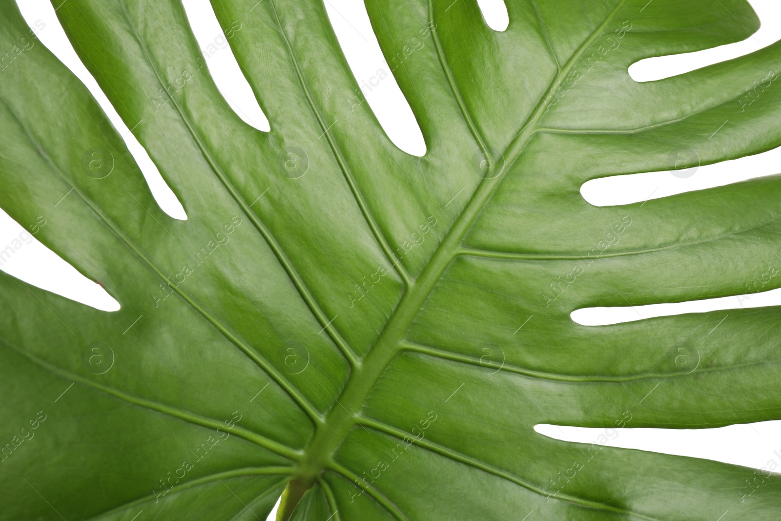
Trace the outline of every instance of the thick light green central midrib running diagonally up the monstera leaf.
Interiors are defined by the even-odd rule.
[[[518,134],[515,134],[515,137],[513,137],[510,145],[508,145],[508,148],[505,150],[505,153],[503,154],[503,156],[506,157],[505,170],[497,175],[497,177],[484,178],[476,188],[476,191],[473,192],[472,198],[469,199],[464,211],[458,216],[458,219],[456,219],[450,230],[448,230],[448,233],[440,243],[437,251],[434,252],[430,262],[423,269],[420,277],[414,280],[412,286],[405,291],[397,308],[391,315],[391,319],[388,320],[380,337],[373,345],[373,348],[369,350],[366,358],[349,376],[348,382],[337,400],[339,406],[334,406],[326,415],[326,420],[323,425],[316,427],[315,437],[312,438],[312,442],[305,448],[304,458],[298,463],[295,479],[301,481],[303,484],[311,484],[323,469],[335,469],[337,467],[335,462],[333,462],[334,452],[342,441],[344,441],[344,438],[348,435],[349,431],[357,425],[358,412],[365,403],[366,398],[368,398],[369,393],[372,391],[376,380],[379,379],[381,373],[387,368],[398,351],[401,351],[401,341],[404,339],[409,325],[423,307],[423,304],[426,302],[433,287],[442,277],[445,269],[447,269],[452,260],[458,256],[458,253],[461,251],[461,244],[465,234],[469,231],[469,228],[472,227],[474,220],[480,214],[487,201],[494,193],[496,187],[501,183],[505,171],[512,167],[515,160],[518,159],[524,148],[526,148],[531,137],[536,133],[537,122],[544,115],[547,106],[554,98],[558,89],[562,86],[566,77],[569,76],[572,67],[580,60],[583,52],[585,52],[585,50],[594,43],[594,40],[604,32],[605,27],[607,27],[615,18],[615,15],[619,12],[625,2],[626,0],[621,0],[615,6],[604,22],[590,34],[590,37],[583,41],[576,52],[572,54],[570,59],[566,62],[565,66],[558,71],[545,95],[540,98],[540,102],[537,104],[537,107],[530,118],[524,123]],[[436,30],[432,30],[432,33],[435,36],[435,41],[438,41]],[[439,55],[440,50],[437,52]],[[441,61],[442,59],[440,57],[440,62]],[[445,70],[446,77],[448,77],[448,81],[451,83],[453,95],[457,98],[459,108],[462,109],[462,114],[466,123],[469,125],[469,129],[473,131],[473,136],[480,145],[480,148],[482,148],[484,152],[487,151],[487,147],[484,145],[485,141],[473,124],[469,112],[466,111],[465,104],[459,99],[460,95],[458,95],[458,90],[452,82],[448,66],[444,62],[442,62],[442,66],[443,70]],[[357,484],[362,487],[364,486],[360,482]],[[577,501],[577,498],[568,498],[568,501]]]

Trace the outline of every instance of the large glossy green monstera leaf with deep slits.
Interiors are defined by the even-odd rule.
[[[58,0],[187,220],[0,3],[0,205],[122,305],[0,277],[0,519],[265,519],[283,491],[280,519],[778,519],[771,473],[533,429],[781,418],[775,308],[570,318],[781,285],[779,177],[579,192],[781,145],[781,45],[627,73],[748,37],[744,0],[508,0],[504,32],[474,0],[368,2],[423,157],[356,94],[319,0],[213,2],[268,133],[180,2]]]

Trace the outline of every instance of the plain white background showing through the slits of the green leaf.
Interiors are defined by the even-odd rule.
[[[84,81],[98,102],[101,102],[105,112],[119,130],[119,134],[125,136],[130,152],[133,152],[141,165],[144,176],[162,209],[173,218],[186,219],[184,209],[160,177],[154,164],[144,152],[144,148],[119,120],[95,80],[87,73],[73,52],[56,19],[52,5],[48,0],[17,1],[30,26],[34,26],[38,20],[45,23],[44,29],[37,35],[41,42]],[[405,152],[423,155],[426,151],[423,136],[420,134],[412,111],[390,74],[390,67],[380,53],[362,2],[360,0],[324,1],[355,78],[362,87],[363,95],[388,136]],[[494,30],[504,30],[507,27],[507,10],[502,0],[478,0],[478,2],[490,27]],[[746,41],[687,55],[646,59],[631,66],[630,75],[637,81],[671,77],[753,52],[776,41],[781,36],[781,5],[779,5],[781,2],[778,0],[750,0],[750,2],[760,16],[762,28]],[[260,130],[268,130],[268,120],[251,95],[246,80],[241,76],[208,0],[184,0],[184,5],[204,51],[209,70],[216,78],[220,91],[242,119]],[[383,80],[377,80],[380,71],[385,73],[383,76],[387,75]],[[688,177],[673,175],[671,172],[660,172],[593,180],[584,185],[582,193],[583,197],[594,205],[626,204],[778,173],[781,170],[779,165],[781,165],[781,148],[750,158],[701,166],[696,171],[689,172]],[[103,291],[102,287],[81,276],[72,266],[37,242],[23,227],[0,210],[0,250],[12,244],[15,239],[20,239],[23,246],[16,250],[11,259],[4,262],[0,269],[29,284],[62,294],[85,305],[92,305],[107,312],[119,309],[120,303]],[[573,313],[573,319],[587,325],[598,325],[684,312],[779,304],[781,304],[781,291],[777,290],[753,294],[750,298],[731,297],[676,305],[579,310]],[[537,426],[537,430],[558,439],[589,444],[594,443],[603,432],[600,429],[566,426]],[[776,465],[781,467],[781,421],[705,430],[625,428],[620,430],[608,445],[697,456],[757,469],[767,468],[769,462],[774,460]],[[778,451],[778,454],[774,451]],[[273,515],[274,512],[269,519],[273,519]]]

